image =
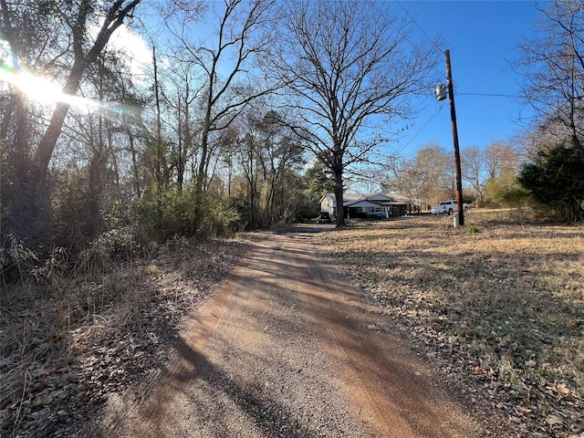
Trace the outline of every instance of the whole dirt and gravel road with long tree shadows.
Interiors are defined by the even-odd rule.
[[[146,395],[110,400],[100,434],[482,436],[388,322],[318,261],[314,231],[256,243],[188,318],[176,360]]]

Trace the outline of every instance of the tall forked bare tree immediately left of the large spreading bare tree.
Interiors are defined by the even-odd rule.
[[[205,190],[209,166],[218,149],[214,135],[225,130],[251,101],[271,90],[260,84],[251,70],[254,57],[269,44],[269,38],[260,32],[274,4],[275,0],[224,0],[213,4],[217,9],[204,11],[203,2],[173,0],[166,14],[167,28],[183,50],[184,59],[192,62],[203,78],[201,99],[197,100],[201,110],[194,177],[198,193]],[[217,20],[211,42],[193,38],[197,35],[193,27],[202,14],[212,17],[212,23]]]

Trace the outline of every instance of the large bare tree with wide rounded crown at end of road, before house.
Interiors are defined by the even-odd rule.
[[[289,2],[272,66],[294,97],[294,129],[334,173],[337,226],[344,224],[343,178],[386,139],[381,125],[412,115],[438,51],[413,46],[389,3]]]

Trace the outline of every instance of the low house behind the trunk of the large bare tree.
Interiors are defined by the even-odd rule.
[[[416,210],[412,200],[389,193],[344,193],[343,206],[347,219],[404,216]],[[337,215],[334,193],[327,193],[320,198],[320,211],[328,212],[331,216]]]

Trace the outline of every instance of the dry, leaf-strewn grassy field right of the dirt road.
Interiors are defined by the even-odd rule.
[[[509,436],[584,436],[584,227],[516,217],[351,223],[318,247]]]

